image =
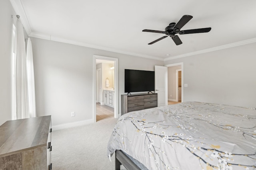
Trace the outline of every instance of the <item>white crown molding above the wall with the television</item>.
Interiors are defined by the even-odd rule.
[[[78,42],[78,41],[72,41],[72,40],[69,40],[69,39],[63,39],[63,38],[59,38],[59,37],[52,37],[51,35],[44,35],[44,34],[40,34],[40,33],[36,33],[36,32],[30,33],[29,36],[30,37],[35,37],[35,38],[40,38],[40,39],[47,39],[47,40],[50,40],[50,41],[58,41],[58,42],[62,42],[62,43],[68,43],[68,44],[79,45],[79,46],[83,46],[83,47],[89,47],[89,48],[93,48],[93,49],[111,51],[111,52],[121,53],[121,54],[125,54],[125,55],[132,55],[132,56],[136,56],[136,57],[144,57],[144,58],[147,58],[147,59],[154,59],[154,60],[164,61],[164,59],[162,59],[160,57],[154,57],[154,56],[149,56],[149,55],[141,55],[141,54],[136,54],[136,53],[130,53],[130,52],[127,52],[127,51],[120,51],[120,50],[112,49],[112,48],[108,48],[108,47],[102,47],[102,46],[98,46],[98,45],[92,45],[92,44],[82,43],[82,42]]]

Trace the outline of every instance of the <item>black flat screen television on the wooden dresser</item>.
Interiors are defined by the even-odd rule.
[[[124,69],[124,92],[155,91],[155,72]]]

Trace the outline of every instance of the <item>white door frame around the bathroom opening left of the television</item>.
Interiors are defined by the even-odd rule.
[[[93,55],[93,122],[96,122],[96,59],[114,61],[114,117],[118,118],[118,59],[112,57],[105,57],[100,55]],[[101,93],[103,90],[101,89]]]

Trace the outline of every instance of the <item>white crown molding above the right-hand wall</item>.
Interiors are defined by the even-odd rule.
[[[248,39],[248,40],[244,40],[244,41],[239,41],[239,42],[231,43],[231,44],[227,44],[227,45],[221,45],[221,46],[213,47],[213,48],[210,48],[210,49],[194,51],[194,52],[186,53],[186,54],[182,54],[182,55],[176,55],[174,57],[168,57],[168,58],[164,59],[164,61],[179,59],[179,58],[188,57],[188,56],[192,56],[192,55],[198,55],[198,54],[202,54],[202,53],[208,53],[208,52],[211,52],[211,51],[218,51],[218,50],[222,50],[222,49],[228,49],[228,48],[231,48],[231,47],[237,47],[237,46],[240,46],[240,45],[246,45],[246,44],[250,44],[250,43],[256,43],[256,38]]]

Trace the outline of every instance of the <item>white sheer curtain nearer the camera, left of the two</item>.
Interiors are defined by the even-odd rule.
[[[28,85],[26,67],[26,45],[23,26],[18,18],[15,33],[15,71],[14,71],[14,119],[28,118]]]

